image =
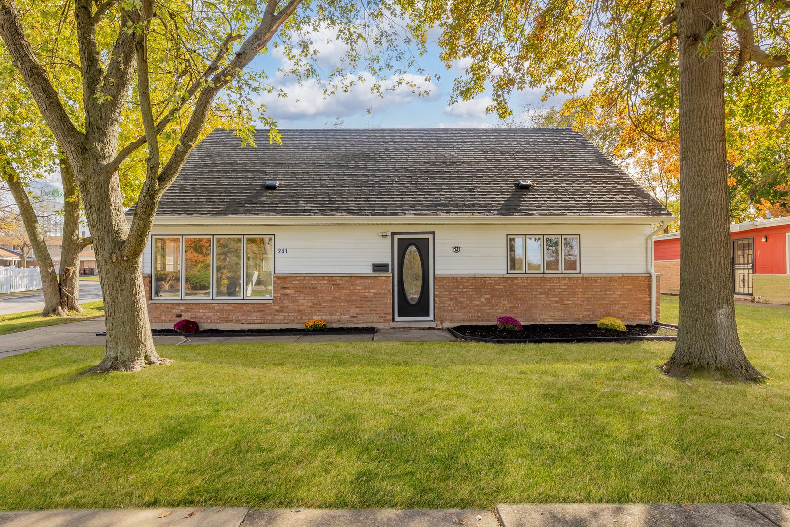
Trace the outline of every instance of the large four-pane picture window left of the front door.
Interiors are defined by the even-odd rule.
[[[274,236],[154,236],[152,299],[273,298]]]

